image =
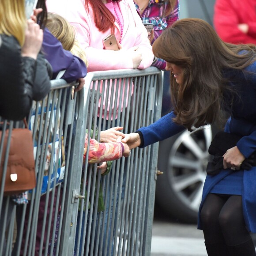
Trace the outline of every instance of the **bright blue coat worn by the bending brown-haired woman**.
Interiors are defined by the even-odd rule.
[[[223,109],[230,113],[230,119],[226,123],[225,131],[243,136],[238,141],[237,147],[245,158],[248,158],[256,151],[256,62],[249,65],[245,72],[232,70],[225,71],[224,75],[230,81],[229,86],[237,91],[233,95],[232,104],[230,91],[225,92],[223,95],[225,102]],[[174,113],[171,112],[154,124],[140,128],[138,131],[143,136],[143,145],[141,147],[146,147],[184,130],[184,127],[173,122],[174,116]],[[207,194],[218,181],[232,172],[230,169],[223,169],[216,176],[206,177],[198,215],[199,229],[201,229],[200,211]],[[249,231],[256,233],[256,167],[249,171],[244,171],[242,202],[246,226]]]

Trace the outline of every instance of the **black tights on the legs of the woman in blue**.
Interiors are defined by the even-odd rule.
[[[241,196],[210,193],[200,216],[206,244],[224,242],[233,246],[251,239],[245,227]]]

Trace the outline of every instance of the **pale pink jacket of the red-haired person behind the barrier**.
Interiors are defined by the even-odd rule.
[[[94,23],[94,15],[91,7],[89,13],[85,7],[85,0],[47,0],[49,12],[56,12],[64,16],[75,26],[77,39],[86,50],[89,66],[87,72],[115,70],[132,68],[132,57],[128,51],[105,50],[103,38],[108,36],[111,31],[104,33],[99,31]],[[151,66],[153,53],[150,42],[147,38],[147,31],[136,11],[133,0],[122,0],[117,3],[124,19],[124,30],[121,44],[124,49],[139,46],[142,53],[140,69]],[[120,39],[120,26],[116,24],[115,36]]]

